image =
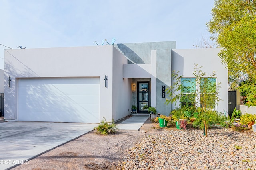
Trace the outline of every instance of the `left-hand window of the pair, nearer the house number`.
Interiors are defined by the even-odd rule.
[[[196,102],[196,78],[181,78],[181,105],[194,106]]]

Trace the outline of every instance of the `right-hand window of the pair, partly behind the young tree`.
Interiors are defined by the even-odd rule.
[[[208,109],[216,108],[216,78],[200,80],[200,105]]]

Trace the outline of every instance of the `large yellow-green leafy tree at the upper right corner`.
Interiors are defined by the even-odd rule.
[[[256,0],[216,0],[206,23],[231,76],[256,76]]]

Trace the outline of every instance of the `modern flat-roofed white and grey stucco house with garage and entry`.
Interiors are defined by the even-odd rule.
[[[4,118],[6,121],[99,123],[146,106],[169,115],[164,104],[171,72],[193,77],[194,63],[221,82],[216,110],[228,109],[228,71],[220,49],[176,49],[176,41],[91,47],[5,50]]]

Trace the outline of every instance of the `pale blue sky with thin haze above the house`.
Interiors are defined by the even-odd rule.
[[[0,44],[13,49],[176,41],[209,35],[214,0],[0,0]],[[0,69],[4,49],[0,45]],[[22,49],[21,49],[22,50]]]

